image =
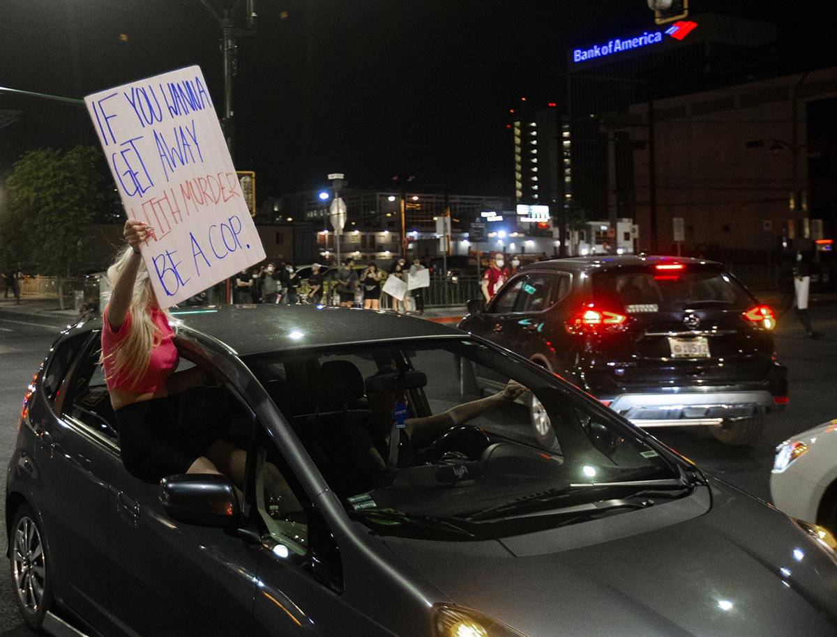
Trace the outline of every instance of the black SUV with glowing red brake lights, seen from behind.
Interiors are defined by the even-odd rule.
[[[675,257],[580,257],[533,263],[460,329],[571,380],[643,427],[709,426],[756,441],[788,402],[773,310],[720,263]],[[490,384],[490,379],[485,380]],[[532,426],[548,431],[540,405]]]

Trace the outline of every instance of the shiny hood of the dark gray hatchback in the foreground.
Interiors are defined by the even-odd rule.
[[[497,541],[386,543],[450,602],[526,637],[837,633],[834,557],[763,502],[714,480],[711,496],[698,515],[665,502]]]

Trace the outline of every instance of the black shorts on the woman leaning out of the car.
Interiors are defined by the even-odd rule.
[[[146,482],[186,473],[214,441],[223,439],[226,418],[212,388],[141,400],[115,411],[122,463]]]

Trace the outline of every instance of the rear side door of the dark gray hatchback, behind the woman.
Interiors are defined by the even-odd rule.
[[[56,597],[103,634],[108,633],[110,587],[107,573],[107,500],[119,461],[116,438],[100,425],[97,404],[110,399],[104,376],[95,377],[99,335],[85,334],[69,375],[54,400],[56,419],[36,426],[40,445],[39,512],[54,564]],[[49,373],[45,382],[49,383]],[[95,389],[100,383],[102,393]]]

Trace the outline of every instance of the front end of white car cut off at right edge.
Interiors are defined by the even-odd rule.
[[[770,492],[789,516],[837,531],[837,419],[776,447]]]

